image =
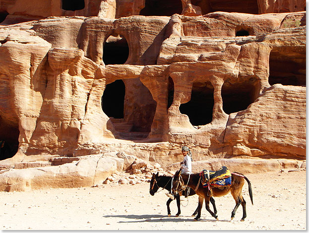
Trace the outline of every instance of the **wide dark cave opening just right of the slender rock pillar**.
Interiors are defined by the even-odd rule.
[[[255,100],[256,79],[251,78],[243,83],[231,83],[226,80],[221,88],[223,111],[226,114],[237,113],[247,109]]]

